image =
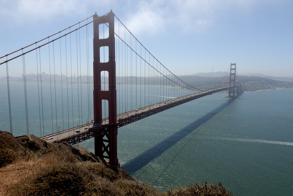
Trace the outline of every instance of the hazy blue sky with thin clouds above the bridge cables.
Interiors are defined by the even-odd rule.
[[[111,9],[175,75],[293,76],[292,0],[0,0],[0,55]]]

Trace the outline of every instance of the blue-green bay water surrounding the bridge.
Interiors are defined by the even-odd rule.
[[[8,104],[5,85],[0,86],[1,105]],[[16,83],[11,85],[23,88]],[[28,105],[38,104],[37,91],[35,88],[35,92],[29,92]],[[57,91],[60,92],[58,88]],[[83,89],[85,94],[86,91]],[[44,102],[50,102],[48,93],[43,92]],[[236,99],[226,98],[227,95],[218,92],[119,128],[117,146],[121,168],[136,180],[161,191],[167,187],[202,184],[206,180],[214,184],[221,181],[234,195],[292,195],[293,89],[247,92]],[[19,96],[22,95],[17,90],[11,92],[15,136],[26,134],[24,103]],[[74,92],[69,98],[66,96],[63,99],[70,100]],[[85,99],[87,95],[82,98]],[[71,111],[67,102],[63,107]],[[10,129],[7,110],[8,106],[0,109],[0,127],[5,131]],[[76,120],[76,107],[72,107],[74,116],[66,114],[69,119],[73,116],[72,122],[56,121],[51,125],[46,121],[46,115],[52,116],[51,111],[60,115],[51,106],[44,108],[44,123],[39,122],[38,107],[30,111],[32,114],[28,116],[33,125],[29,124],[29,134],[46,135],[60,124],[66,128],[71,123],[80,123]],[[83,121],[89,118],[86,114]],[[89,139],[78,145],[94,152],[93,144],[93,139]]]

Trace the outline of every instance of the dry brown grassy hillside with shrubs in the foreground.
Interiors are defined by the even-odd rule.
[[[34,135],[28,138],[18,142],[0,131],[0,195],[232,195],[220,182],[164,193],[85,148],[51,144]]]

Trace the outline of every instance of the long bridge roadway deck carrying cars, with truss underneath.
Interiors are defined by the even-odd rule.
[[[238,86],[235,86],[238,87]],[[183,97],[177,97],[175,99],[171,99],[165,102],[153,104],[147,107],[135,109],[132,111],[125,112],[123,114],[117,115],[117,126],[121,127],[127,124],[130,124],[132,122],[138,121],[140,119],[146,118],[148,116],[154,115],[156,113],[159,113],[161,111],[170,109],[172,107],[181,105],[183,103],[192,101],[194,99],[198,99],[200,97],[204,97],[206,95],[210,95],[216,92],[220,92],[226,89],[229,89],[231,87],[222,87],[218,89],[198,92],[190,95],[186,95]],[[50,134],[44,137],[41,137],[41,139],[44,139],[51,143],[60,143],[60,142],[68,142],[70,144],[76,144],[81,141],[85,141],[89,138],[95,137],[97,135],[103,134],[107,132],[109,126],[108,118],[103,119],[103,121],[100,123],[87,123],[78,127],[74,127],[72,129],[60,131],[58,133]]]

